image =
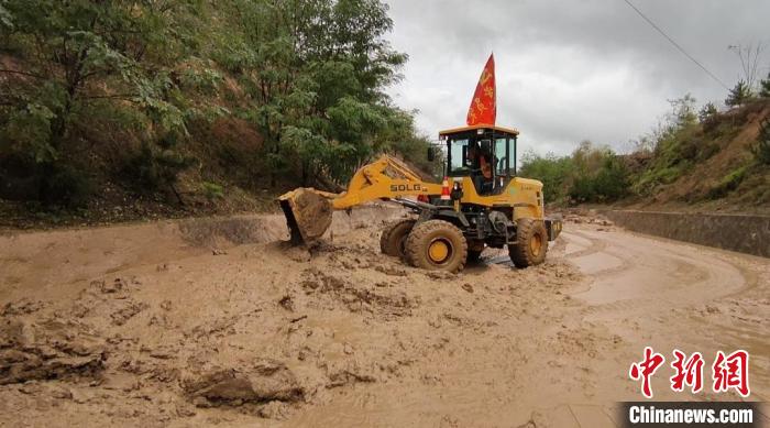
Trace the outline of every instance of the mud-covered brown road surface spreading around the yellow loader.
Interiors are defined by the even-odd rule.
[[[736,349],[770,399],[768,259],[578,217],[541,266],[437,274],[359,212],[310,253],[275,216],[0,237],[0,426],[609,427],[646,345],[656,399],[739,399],[710,388]]]

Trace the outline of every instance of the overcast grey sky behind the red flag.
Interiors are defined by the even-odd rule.
[[[497,124],[521,134],[519,153],[570,153],[582,140],[628,150],[692,94],[722,103],[726,90],[623,0],[386,0],[393,46],[409,55],[394,101],[417,109],[435,138],[465,124],[481,69],[495,54]],[[768,44],[768,0],[632,0],[692,56],[732,87],[740,62],[728,45]]]

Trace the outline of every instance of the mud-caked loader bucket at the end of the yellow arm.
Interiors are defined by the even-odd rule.
[[[311,243],[331,224],[331,202],[316,189],[300,187],[282,195],[278,201],[295,245]]]

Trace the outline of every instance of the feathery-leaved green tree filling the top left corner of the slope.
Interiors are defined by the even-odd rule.
[[[190,80],[217,76],[191,66],[200,4],[2,2],[0,51],[10,65],[0,69],[0,155],[40,176],[40,199],[72,199],[62,174],[77,175],[78,145],[99,120],[134,130],[152,153],[170,150],[153,147],[156,142],[186,135],[187,121],[204,111],[185,89]]]

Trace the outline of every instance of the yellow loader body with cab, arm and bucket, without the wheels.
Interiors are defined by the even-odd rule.
[[[472,173],[463,174],[457,171],[452,173],[451,163],[453,161],[451,161],[452,154],[450,153],[453,151],[452,139],[466,139],[461,141],[473,141],[473,144],[476,144],[475,135],[479,135],[479,139],[488,135],[490,141],[504,139],[505,143],[508,144],[501,145],[505,149],[505,157],[501,157],[502,154],[497,156],[505,161],[505,167],[501,169],[505,174],[492,178],[492,183],[487,183],[492,189],[484,194],[480,194],[474,185]],[[382,155],[377,161],[361,167],[353,175],[348,189],[343,193],[332,194],[312,188],[298,188],[282,195],[279,202],[292,231],[292,240],[296,243],[307,243],[320,238],[331,223],[333,210],[346,210],[373,200],[394,200],[415,210],[499,211],[512,223],[522,218],[542,221],[544,220],[542,183],[515,176],[516,135],[518,135],[518,131],[514,129],[483,125],[442,131],[439,138],[447,141],[448,144],[446,171],[450,175],[448,177],[451,190],[450,200],[440,199],[442,184],[422,179],[404,162],[389,155]],[[512,142],[513,151],[509,145]],[[463,156],[465,156],[464,150]],[[513,167],[507,160],[507,157],[512,157],[512,152]],[[463,160],[463,162],[465,161]],[[477,174],[475,178],[479,178]],[[427,199],[429,204],[420,205],[420,202],[408,199],[416,196],[424,196],[425,198],[421,199]],[[459,216],[463,217],[463,215]],[[495,213],[495,216],[499,219],[499,213]],[[468,220],[464,220],[463,217],[461,222],[468,223]],[[548,227],[551,227],[550,222]],[[558,224],[558,228],[557,233],[561,230],[561,223]],[[469,242],[473,242],[473,239],[469,238]]]

